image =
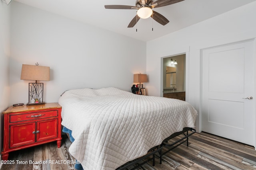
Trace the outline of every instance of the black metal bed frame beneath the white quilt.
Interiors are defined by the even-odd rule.
[[[188,133],[188,131],[191,131],[191,133]],[[116,170],[127,170],[128,168],[130,168],[130,166],[134,166],[132,167],[132,169],[130,170],[134,170],[144,164],[146,164],[147,162],[149,162],[150,160],[153,160],[153,166],[155,166],[155,154],[158,152],[159,153],[159,158],[160,158],[160,164],[162,164],[162,156],[168,152],[170,152],[171,150],[175,149],[176,147],[180,146],[182,143],[187,142],[187,147],[188,147],[188,137],[191,136],[192,134],[196,133],[196,130],[190,127],[184,127],[182,131],[180,132],[176,132],[172,135],[170,135],[170,137],[164,139],[164,141],[162,142],[161,145],[158,145],[156,147],[151,148],[148,151],[148,154],[137,158],[135,160],[132,160],[130,162],[127,162],[126,164],[118,167]],[[173,143],[168,143],[168,140],[173,139],[174,137],[177,137],[179,135],[183,134],[184,137],[178,139],[177,141],[173,142]],[[166,152],[162,152],[162,148],[163,147],[167,147],[168,150]],[[151,158],[148,158],[152,156]],[[146,159],[148,158],[148,159]],[[142,163],[140,163],[141,161],[143,161]]]

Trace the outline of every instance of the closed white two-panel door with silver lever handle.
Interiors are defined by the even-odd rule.
[[[255,145],[254,41],[202,50],[202,131]]]

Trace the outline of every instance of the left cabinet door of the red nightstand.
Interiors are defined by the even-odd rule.
[[[35,142],[36,124],[23,123],[10,126],[10,148]]]

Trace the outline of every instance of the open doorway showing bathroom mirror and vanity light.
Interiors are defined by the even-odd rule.
[[[162,58],[162,96],[186,100],[186,54]]]

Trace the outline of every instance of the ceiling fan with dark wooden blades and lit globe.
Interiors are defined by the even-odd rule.
[[[106,9],[127,9],[127,10],[138,10],[137,15],[129,23],[129,27],[134,27],[134,25],[140,20],[140,18],[153,18],[155,21],[162,25],[166,25],[169,21],[159,14],[156,11],[153,11],[152,8],[159,8],[162,6],[167,6],[181,2],[183,0],[136,0],[135,6],[128,5],[105,5]]]

